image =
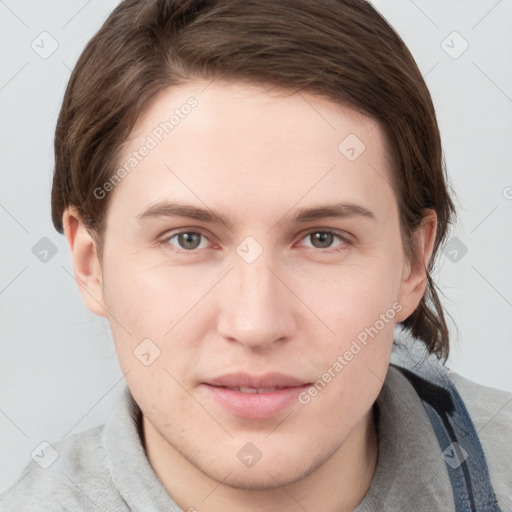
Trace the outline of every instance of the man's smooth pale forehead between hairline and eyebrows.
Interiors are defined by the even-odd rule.
[[[197,81],[161,91],[118,165],[128,172],[113,202],[129,197],[130,213],[165,199],[240,215],[326,199],[382,211],[394,202],[377,123],[317,95],[249,83]]]

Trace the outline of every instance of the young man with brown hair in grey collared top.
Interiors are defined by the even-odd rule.
[[[507,509],[511,397],[437,359],[435,112],[370,4],[122,2],[55,142],[128,387],[2,510]],[[396,325],[433,360],[390,366]]]

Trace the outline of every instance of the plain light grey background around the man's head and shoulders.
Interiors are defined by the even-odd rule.
[[[373,3],[426,77],[457,192],[460,242],[434,274],[458,327],[448,366],[512,391],[512,0]],[[108,323],[83,304],[50,220],[64,89],[116,4],[0,1],[0,492],[42,441],[104,423],[124,386]],[[46,262],[33,253],[43,237],[57,250]]]

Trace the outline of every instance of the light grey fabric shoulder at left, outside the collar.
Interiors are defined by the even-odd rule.
[[[0,496],[0,511],[126,511],[110,478],[103,426],[44,443]]]

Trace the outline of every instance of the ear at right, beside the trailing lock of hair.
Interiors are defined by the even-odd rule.
[[[396,321],[403,322],[418,307],[427,287],[426,268],[432,256],[437,232],[437,215],[435,210],[426,210],[423,220],[413,233],[414,261],[404,262],[402,284],[398,298],[402,310],[397,314]]]

